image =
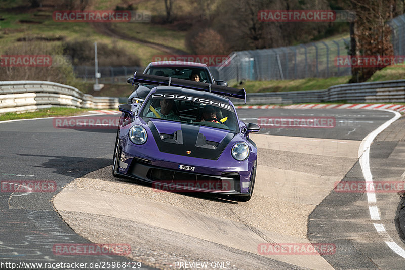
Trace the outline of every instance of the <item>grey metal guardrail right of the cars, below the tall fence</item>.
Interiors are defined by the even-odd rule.
[[[233,102],[234,101],[234,102]],[[405,80],[340,84],[324,90],[247,94],[247,104],[405,102]],[[232,100],[235,104],[243,104]]]

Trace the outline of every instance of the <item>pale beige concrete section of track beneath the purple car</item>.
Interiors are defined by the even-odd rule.
[[[355,164],[360,141],[251,138],[259,154],[249,202],[156,192],[113,178],[109,166],[67,185],[54,206],[90,241],[130,244],[129,257],[143,265],[173,269],[180,261],[226,261],[233,269],[332,269],[318,254],[263,254],[258,247],[310,243],[308,216]]]

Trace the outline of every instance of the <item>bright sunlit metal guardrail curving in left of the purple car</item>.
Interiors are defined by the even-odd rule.
[[[56,106],[115,109],[118,105],[118,98],[93,97],[60,83],[0,81],[0,113],[27,112]]]

